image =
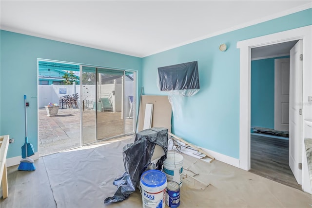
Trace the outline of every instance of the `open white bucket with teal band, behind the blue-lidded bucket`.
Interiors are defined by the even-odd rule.
[[[177,182],[182,186],[183,156],[177,153],[168,153],[167,159],[163,162],[164,172],[168,181]]]

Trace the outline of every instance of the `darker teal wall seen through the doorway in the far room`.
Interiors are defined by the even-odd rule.
[[[289,58],[283,56],[278,58]],[[274,60],[251,64],[251,126],[274,129]]]

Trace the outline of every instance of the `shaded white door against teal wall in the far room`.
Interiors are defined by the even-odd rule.
[[[289,131],[289,58],[275,59],[274,129]]]

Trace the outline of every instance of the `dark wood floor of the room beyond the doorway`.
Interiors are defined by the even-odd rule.
[[[299,189],[289,167],[289,140],[251,135],[251,173]]]

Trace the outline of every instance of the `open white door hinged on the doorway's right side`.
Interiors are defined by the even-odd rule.
[[[298,184],[302,184],[302,42],[299,40],[290,52],[289,167]]]

